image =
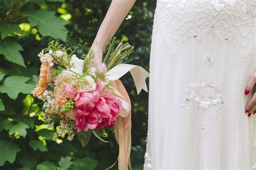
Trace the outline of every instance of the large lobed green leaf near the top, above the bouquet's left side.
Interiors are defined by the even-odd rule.
[[[28,18],[31,26],[38,26],[38,31],[43,36],[51,36],[66,41],[68,30],[64,25],[68,24],[65,20],[56,17],[55,12],[39,9],[29,14]]]

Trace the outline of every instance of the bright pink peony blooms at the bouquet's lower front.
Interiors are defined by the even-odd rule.
[[[90,92],[75,92],[69,84],[63,82],[63,85],[66,93],[75,100],[75,110],[71,115],[75,117],[78,131],[102,129],[117,123],[117,116],[123,109],[123,104],[111,91],[103,90],[105,82],[99,81],[96,89]]]

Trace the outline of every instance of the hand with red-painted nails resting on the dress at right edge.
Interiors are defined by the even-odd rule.
[[[248,114],[249,117],[252,114],[256,113],[256,92],[252,91],[255,83],[256,83],[256,70],[254,73],[252,73],[250,81],[248,82],[246,90],[245,90],[245,95],[254,93],[254,94],[252,94],[252,98],[251,98],[250,102],[246,105],[246,108],[245,108],[245,112]]]

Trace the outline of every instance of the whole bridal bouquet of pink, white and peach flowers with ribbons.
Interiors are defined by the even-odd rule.
[[[121,141],[123,136],[127,136],[126,139],[129,140],[124,146],[126,151],[119,152],[130,155],[131,103],[127,91],[118,79],[130,71],[133,79],[135,77],[139,93],[141,89],[147,90],[144,80],[149,76],[143,68],[123,63],[133,52],[133,48],[128,43],[117,44],[113,38],[103,59],[105,71],[107,72],[107,67],[110,70],[100,73],[92,67],[92,51],[82,60],[71,48],[51,41],[48,48],[38,54],[42,65],[38,84],[32,90],[33,96],[44,102],[43,118],[46,124],[53,127],[57,123],[59,136],[67,135],[72,140],[76,135],[83,146],[88,143],[92,134],[105,141],[100,137],[103,135],[99,129],[115,126],[119,146],[122,147],[121,142],[125,143]],[[123,159],[120,154],[119,160]],[[123,161],[127,165],[130,160]]]

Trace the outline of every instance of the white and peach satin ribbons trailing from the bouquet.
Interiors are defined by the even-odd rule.
[[[123,83],[118,79],[129,71],[133,77],[137,94],[139,94],[142,89],[147,91],[145,79],[149,77],[149,73],[140,66],[122,63],[113,67],[106,73],[106,75],[109,75],[108,79],[113,81],[114,92],[121,98],[124,106],[124,109],[119,112],[120,116],[117,118],[117,124],[114,126],[114,136],[119,145],[118,169],[122,170],[127,170],[129,167],[132,169],[130,162],[132,123],[130,97]],[[113,167],[113,165],[111,167]]]

